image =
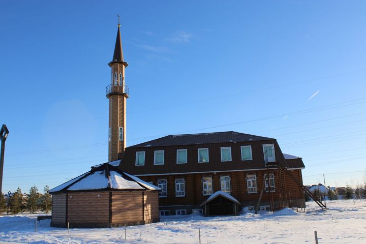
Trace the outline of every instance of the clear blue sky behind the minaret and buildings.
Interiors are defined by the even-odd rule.
[[[364,1],[3,1],[3,192],[43,190],[108,159],[121,15],[127,144],[238,131],[303,158],[304,184],[366,170]]]

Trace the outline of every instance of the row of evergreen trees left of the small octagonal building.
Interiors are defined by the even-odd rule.
[[[0,213],[8,210],[11,214],[18,214],[19,212],[29,211],[31,214],[42,210],[46,214],[52,210],[52,196],[49,194],[49,187],[45,186],[43,189],[44,194],[38,192],[36,186],[29,189],[28,194],[23,194],[21,189],[18,187],[16,192],[10,196],[10,201],[5,200],[3,194],[0,194]],[[8,196],[9,197],[9,196]]]

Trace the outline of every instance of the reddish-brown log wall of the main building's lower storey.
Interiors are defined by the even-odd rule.
[[[292,170],[293,175],[301,180],[301,170]],[[256,174],[257,177],[257,193],[248,193],[247,191],[247,174]],[[231,185],[231,195],[235,197],[240,202],[246,201],[257,201],[259,198],[260,191],[263,187],[264,174],[266,174],[266,170],[253,170],[253,171],[235,171],[235,172],[225,172],[225,173],[212,173],[212,174],[182,174],[182,175],[167,175],[167,176],[140,176],[141,179],[145,181],[151,181],[153,184],[157,184],[158,179],[167,179],[167,197],[159,198],[159,205],[199,205],[203,201],[205,201],[209,196],[203,196],[203,187],[202,187],[202,177],[203,176],[211,176],[212,177],[212,185],[213,191],[221,190],[220,185],[220,176],[229,175],[230,176],[230,185]],[[271,170],[270,173],[275,175],[275,187],[276,192],[272,192],[271,194],[264,192],[263,201],[269,201],[270,195],[272,195],[274,201],[279,201],[280,199],[280,176],[278,170]],[[296,184],[294,180],[292,180],[288,175],[284,172],[283,185],[287,190],[287,194],[290,194],[291,199],[302,199],[301,189]],[[184,178],[185,179],[185,197],[176,197],[175,196],[175,179],[176,178]],[[289,198],[289,196],[288,196]]]

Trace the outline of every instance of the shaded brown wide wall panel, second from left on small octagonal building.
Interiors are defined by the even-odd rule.
[[[68,195],[68,222],[109,223],[109,192],[69,193]]]

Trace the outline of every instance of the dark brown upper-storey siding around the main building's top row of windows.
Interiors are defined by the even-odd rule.
[[[263,144],[274,144],[276,161],[286,166],[281,148],[276,140],[248,141],[195,144],[185,146],[160,146],[160,147],[127,147],[123,156],[123,162],[119,166],[121,170],[134,175],[144,174],[167,174],[167,173],[188,173],[188,172],[212,172],[212,171],[233,171],[233,170],[255,170],[263,169],[264,154]],[[240,146],[252,146],[253,160],[242,161]],[[221,147],[231,147],[232,161],[221,162]],[[198,163],[198,148],[208,148],[209,162]],[[187,164],[176,163],[176,150],[187,149]],[[154,151],[164,150],[164,165],[154,165]],[[145,151],[145,165],[136,166],[136,152]]]

